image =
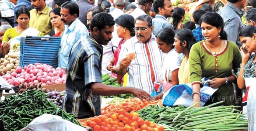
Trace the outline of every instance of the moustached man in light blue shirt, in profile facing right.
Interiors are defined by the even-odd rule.
[[[172,28],[168,17],[172,16],[173,6],[170,0],[156,0],[153,6],[154,12],[156,13],[156,16],[152,20],[154,26],[153,34],[156,35],[163,28]]]

